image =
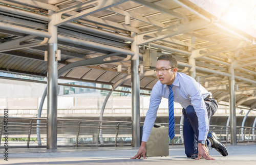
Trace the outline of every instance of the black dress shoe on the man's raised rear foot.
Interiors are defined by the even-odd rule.
[[[217,135],[213,131],[208,133],[207,138],[211,142],[211,148],[215,148],[222,156],[228,155],[227,148],[217,140]]]

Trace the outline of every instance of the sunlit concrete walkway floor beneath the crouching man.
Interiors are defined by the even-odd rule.
[[[98,148],[58,148],[55,151],[46,148],[9,148],[8,161],[4,160],[4,149],[0,149],[0,164],[256,164],[256,143],[226,145],[229,155],[223,157],[215,149],[210,155],[216,160],[194,160],[184,154],[184,146],[169,146],[169,156],[148,157],[147,159],[130,159],[138,148],[132,147],[98,147]]]

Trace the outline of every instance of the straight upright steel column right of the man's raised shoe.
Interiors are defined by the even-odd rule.
[[[234,92],[234,69],[233,63],[229,67],[231,77],[228,79],[229,86],[229,110],[230,110],[230,143],[237,144],[237,118],[236,118],[236,93]]]

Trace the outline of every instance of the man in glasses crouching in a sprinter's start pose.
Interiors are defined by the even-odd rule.
[[[157,59],[156,75],[159,81],[152,89],[150,107],[148,108],[143,126],[142,142],[138,153],[132,159],[145,157],[146,142],[152,131],[157,110],[162,97],[168,98],[167,85],[173,85],[174,101],[179,102],[183,109],[183,139],[187,157],[215,160],[210,157],[209,148],[215,148],[223,156],[227,156],[226,147],[217,140],[214,132],[209,131],[208,119],[217,111],[218,104],[203,86],[194,78],[177,72],[177,61],[172,54],[163,54]]]

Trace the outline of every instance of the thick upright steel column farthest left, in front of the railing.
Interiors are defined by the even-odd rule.
[[[54,26],[54,12],[49,10],[52,20],[49,21],[48,42],[48,81],[47,81],[47,149],[57,149],[57,96],[58,96],[58,61],[55,53],[57,45],[57,27]]]

